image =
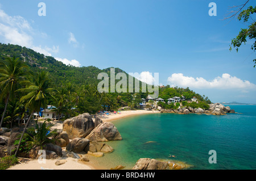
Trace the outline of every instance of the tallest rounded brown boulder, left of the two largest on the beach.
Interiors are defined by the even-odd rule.
[[[94,129],[94,122],[89,113],[83,113],[63,122],[63,131],[67,132],[69,139],[84,138]]]

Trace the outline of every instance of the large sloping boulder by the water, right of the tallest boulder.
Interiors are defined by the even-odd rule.
[[[104,122],[99,124],[92,132],[85,138],[90,141],[114,141],[122,140],[121,134],[113,123]]]

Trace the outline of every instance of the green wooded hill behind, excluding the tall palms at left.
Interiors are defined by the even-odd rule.
[[[4,62],[8,57],[19,58],[27,64],[27,80],[34,81],[34,75],[40,71],[47,71],[48,77],[51,79],[52,96],[47,98],[47,103],[57,107],[66,116],[74,116],[79,113],[89,112],[96,113],[98,110],[117,110],[119,107],[129,106],[130,108],[139,108],[141,99],[146,99],[148,92],[142,92],[140,82],[140,91],[136,93],[114,92],[114,93],[99,93],[97,91],[97,79],[99,73],[107,73],[110,77],[110,68],[98,69],[95,66],[75,67],[65,65],[63,62],[55,60],[51,56],[44,56],[26,47],[19,45],[1,44],[0,43],[0,62]],[[125,73],[125,71],[115,68],[115,74]],[[128,78],[128,74],[125,73]],[[135,78],[133,78],[135,80]],[[129,79],[127,79],[127,85]],[[115,80],[115,83],[119,80]],[[110,83],[110,81],[109,81]],[[135,84],[135,81],[134,81]],[[19,89],[24,85],[19,85]],[[135,88],[135,85],[134,85]],[[128,87],[127,87],[128,89]],[[0,87],[0,92],[2,87]],[[196,94],[196,92],[179,87],[159,87],[159,97],[167,100],[173,96],[185,96],[186,100],[191,100],[194,96],[201,103],[210,103],[208,97]],[[24,112],[24,106],[18,104],[22,94],[15,94],[15,97],[10,100],[10,105],[7,107],[7,115],[11,115],[12,109],[18,106],[20,112]],[[3,96],[3,98],[5,98]],[[184,103],[185,104],[185,103]],[[0,102],[0,111],[5,108],[5,99]],[[75,109],[74,109],[75,108]],[[75,111],[74,111],[75,110]]]

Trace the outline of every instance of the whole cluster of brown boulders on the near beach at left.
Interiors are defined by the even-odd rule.
[[[0,157],[14,154],[22,129],[2,128],[0,134]],[[55,144],[44,144],[43,148],[36,146],[28,153],[18,153],[18,157],[38,159],[42,155],[42,149],[46,154],[46,159],[57,159],[62,157],[72,157],[88,161],[88,158],[81,158],[82,154],[102,157],[105,153],[112,153],[114,149],[102,141],[122,140],[121,134],[113,123],[103,123],[100,117],[92,119],[89,113],[83,113],[63,122],[63,130],[54,137]],[[41,151],[40,151],[41,150]],[[56,165],[65,162],[57,162]]]

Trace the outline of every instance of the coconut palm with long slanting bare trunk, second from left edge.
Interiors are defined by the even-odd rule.
[[[20,98],[20,102],[25,102],[24,106],[30,111],[30,117],[23,129],[22,135],[20,136],[19,145],[15,152],[15,157],[18,154],[20,142],[22,141],[24,132],[28,124],[30,123],[31,117],[34,112],[39,112],[40,108],[46,108],[47,98],[51,96],[53,89],[49,88],[49,78],[48,72],[41,71],[38,72],[34,78],[34,82],[30,82],[30,85],[26,88],[19,89],[17,91],[27,92],[27,95]]]

